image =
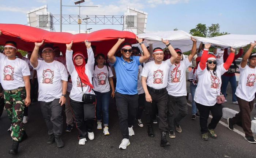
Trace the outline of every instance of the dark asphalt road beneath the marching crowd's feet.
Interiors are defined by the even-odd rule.
[[[10,155],[12,141],[10,132],[10,120],[6,112],[0,118],[0,143],[1,157],[256,157],[256,144],[251,144],[245,139],[228,130],[225,126],[218,124],[216,133],[217,139],[209,138],[203,141],[200,135],[199,118],[191,120],[191,107],[188,107],[189,114],[181,121],[182,133],[176,132],[176,138],[167,140],[171,146],[160,147],[160,132],[158,124],[154,125],[155,137],[147,136],[147,127],[139,127],[135,124],[133,128],[135,135],[130,137],[131,145],[126,150],[118,149],[122,137],[118,126],[118,116],[114,105],[110,107],[110,135],[103,135],[103,130],[97,130],[95,123],[95,139],[87,142],[84,146],[78,145],[78,131],[73,129],[71,132],[63,132],[65,146],[58,149],[54,144],[48,145],[47,128],[42,118],[41,109],[38,103],[33,103],[29,108],[29,122],[25,125],[28,139],[20,143],[19,154]],[[144,114],[143,114],[144,115]],[[145,122],[143,117],[142,121]],[[223,122],[226,122],[222,119]],[[64,126],[65,129],[65,126]],[[210,135],[209,135],[210,136]]]

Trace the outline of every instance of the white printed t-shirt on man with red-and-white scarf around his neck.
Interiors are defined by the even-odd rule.
[[[172,96],[187,96],[186,70],[191,65],[188,58],[173,64],[168,73],[167,91]]]

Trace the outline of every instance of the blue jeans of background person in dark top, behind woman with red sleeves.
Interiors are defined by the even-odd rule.
[[[235,95],[237,90],[236,76],[222,75],[221,80],[222,80],[222,88],[221,88],[222,94],[226,97],[227,84],[229,84],[230,82],[231,88],[232,88],[232,102],[236,102],[237,101],[237,96]]]

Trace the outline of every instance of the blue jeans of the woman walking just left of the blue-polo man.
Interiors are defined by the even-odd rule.
[[[103,114],[103,123],[104,126],[109,125],[109,100],[110,100],[110,91],[106,93],[101,93],[94,91],[96,94],[96,118],[97,121],[101,122]]]

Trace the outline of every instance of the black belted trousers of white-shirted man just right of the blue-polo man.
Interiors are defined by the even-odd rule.
[[[148,91],[152,98],[152,103],[146,102],[146,118],[147,125],[153,125],[153,119],[155,118],[155,109],[157,106],[159,116],[159,130],[161,132],[168,132],[168,121],[167,121],[167,103],[168,103],[168,92],[165,89],[162,93],[154,93]]]

